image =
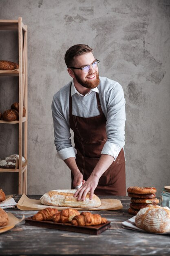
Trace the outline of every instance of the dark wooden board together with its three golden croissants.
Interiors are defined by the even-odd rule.
[[[27,225],[95,235],[110,227],[110,221],[99,214],[92,214],[89,211],[80,213],[71,208],[58,211],[47,207],[25,221]]]

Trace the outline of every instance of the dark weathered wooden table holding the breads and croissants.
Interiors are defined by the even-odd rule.
[[[40,195],[28,195],[39,199]],[[121,200],[123,209],[117,211],[92,211],[111,221],[111,227],[102,234],[89,235],[35,227],[21,223],[0,234],[0,255],[170,255],[170,235],[154,235],[123,229],[121,222],[128,214],[130,198],[101,196]],[[16,202],[20,195],[15,195]],[[35,211],[8,209],[16,217],[30,217]]]

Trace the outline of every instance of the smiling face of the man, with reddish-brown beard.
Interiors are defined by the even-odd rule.
[[[84,67],[91,65],[95,62],[95,58],[91,52],[86,54],[78,55],[74,60],[74,67]],[[88,73],[84,73],[83,70],[73,70],[75,79],[77,82],[85,88],[93,89],[99,85],[99,72],[98,67],[95,69],[91,66]]]

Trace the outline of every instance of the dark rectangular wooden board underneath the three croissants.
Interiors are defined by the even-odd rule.
[[[25,219],[26,225],[32,225],[37,227],[46,227],[49,229],[59,229],[65,231],[72,231],[78,233],[99,235],[110,227],[110,221],[105,224],[95,225],[95,226],[74,226],[70,223],[55,223],[50,220],[33,220],[31,217]]]

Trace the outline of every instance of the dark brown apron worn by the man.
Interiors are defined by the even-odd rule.
[[[72,115],[72,97],[70,86],[70,128],[74,132],[76,154],[76,164],[87,180],[99,161],[102,148],[107,141],[106,117],[102,111],[99,94],[96,92],[97,108],[99,115],[96,117],[77,117]],[[71,174],[71,187],[73,187],[74,176]],[[126,195],[125,158],[124,150],[121,149],[117,159],[100,177],[96,195]]]

